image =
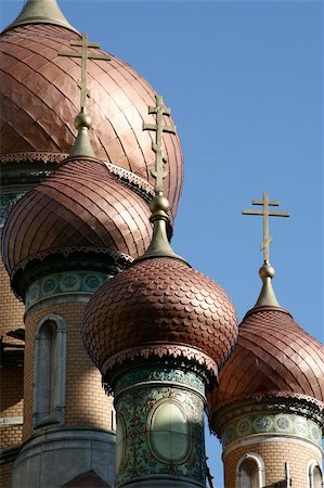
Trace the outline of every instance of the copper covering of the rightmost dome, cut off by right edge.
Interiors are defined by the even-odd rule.
[[[302,395],[324,401],[324,347],[284,309],[256,307],[238,328],[210,410],[258,396]]]

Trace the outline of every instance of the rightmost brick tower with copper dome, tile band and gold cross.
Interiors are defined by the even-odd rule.
[[[276,300],[269,260],[269,216],[262,210],[263,285],[238,326],[238,341],[209,397],[210,426],[223,446],[225,488],[321,488],[324,426],[324,350]]]

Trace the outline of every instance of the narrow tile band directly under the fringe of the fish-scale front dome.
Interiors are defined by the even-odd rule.
[[[204,382],[196,374],[190,371],[168,369],[164,367],[147,368],[126,373],[116,383],[114,388],[115,396],[117,396],[124,388],[143,382],[172,382],[176,384],[182,384],[199,391],[200,395],[205,396]]]

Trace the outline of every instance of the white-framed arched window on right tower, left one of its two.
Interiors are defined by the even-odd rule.
[[[236,488],[262,488],[264,479],[264,462],[259,454],[250,452],[238,460]]]

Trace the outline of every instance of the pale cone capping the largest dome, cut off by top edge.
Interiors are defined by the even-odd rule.
[[[53,24],[78,33],[77,29],[67,22],[57,5],[56,0],[27,0],[20,15],[4,29],[4,31],[18,25],[26,24]]]

